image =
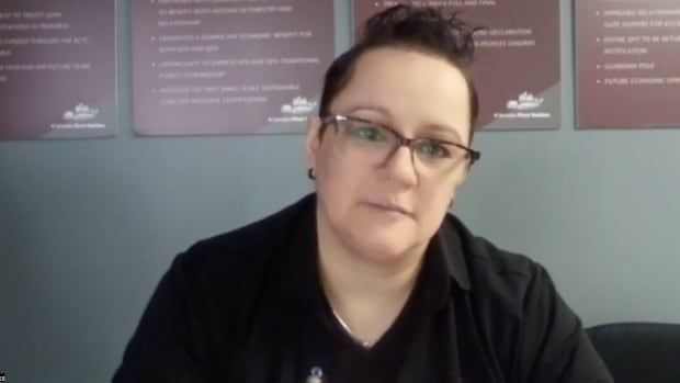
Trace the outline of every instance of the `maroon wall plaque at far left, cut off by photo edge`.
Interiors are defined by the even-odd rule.
[[[0,2],[0,139],[115,135],[115,1]]]

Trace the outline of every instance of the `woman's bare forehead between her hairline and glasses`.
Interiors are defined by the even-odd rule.
[[[375,48],[360,56],[331,110],[377,115],[403,131],[450,126],[466,139],[468,92],[463,72],[443,57],[401,47]]]

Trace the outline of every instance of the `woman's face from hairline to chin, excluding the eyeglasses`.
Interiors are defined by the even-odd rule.
[[[330,112],[375,122],[403,136],[467,145],[468,88],[444,58],[406,48],[375,48],[355,63]],[[400,147],[387,161],[369,162],[348,150],[342,129],[319,136],[313,119],[307,165],[314,169],[319,228],[348,250],[376,262],[398,261],[423,248],[442,223],[464,169],[422,171]]]

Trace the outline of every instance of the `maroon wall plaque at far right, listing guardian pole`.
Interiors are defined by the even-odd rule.
[[[577,126],[680,126],[680,2],[575,5]]]

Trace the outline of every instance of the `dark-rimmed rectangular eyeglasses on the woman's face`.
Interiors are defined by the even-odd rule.
[[[411,162],[423,172],[464,171],[480,158],[480,153],[462,144],[439,138],[405,137],[392,127],[359,117],[327,114],[321,128],[332,125],[339,134],[339,149],[347,156],[372,165],[385,165],[401,146],[408,147]]]

